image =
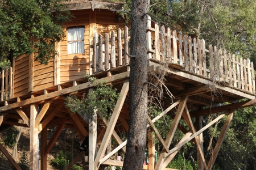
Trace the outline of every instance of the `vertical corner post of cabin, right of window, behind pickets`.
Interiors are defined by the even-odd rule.
[[[89,12],[89,43],[93,44],[93,35],[96,32],[96,11]],[[93,48],[90,48],[90,66],[93,65]],[[93,69],[89,70],[90,75],[93,74]]]

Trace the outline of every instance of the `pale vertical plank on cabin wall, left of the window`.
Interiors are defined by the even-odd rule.
[[[57,55],[54,58],[54,85],[57,85],[60,84],[60,42],[55,42],[55,51]]]

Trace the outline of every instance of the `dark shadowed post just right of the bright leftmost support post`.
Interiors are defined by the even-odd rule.
[[[47,129],[44,128],[41,133],[41,170],[47,170],[47,154],[44,155],[44,148],[47,146]]]

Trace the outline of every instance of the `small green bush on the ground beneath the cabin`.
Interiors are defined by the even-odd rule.
[[[72,161],[72,159],[72,152],[67,151],[64,153],[63,150],[60,150],[56,155],[56,159],[52,160],[51,165],[52,167],[62,170]],[[82,167],[73,165],[71,169],[82,170]]]

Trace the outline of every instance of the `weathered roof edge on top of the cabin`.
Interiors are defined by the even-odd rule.
[[[98,2],[98,1],[68,1],[64,2],[68,6],[68,10],[85,10],[85,9],[112,9],[121,10],[124,3],[120,2]]]

